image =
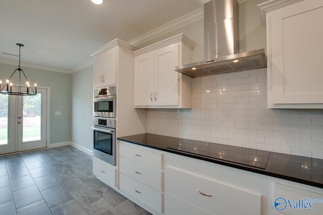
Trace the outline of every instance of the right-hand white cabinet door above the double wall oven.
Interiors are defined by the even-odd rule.
[[[103,76],[104,86],[115,85],[117,76],[117,47],[103,53]]]

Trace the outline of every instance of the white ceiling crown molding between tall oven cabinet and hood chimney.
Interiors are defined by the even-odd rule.
[[[197,20],[203,19],[203,9],[198,9],[196,11],[193,11],[192,13],[189,13],[183,17],[180,17],[172,22],[169,22],[163,26],[160,26],[152,31],[149,31],[135,39],[132,39],[129,41],[129,43],[139,46],[140,44],[147,42],[153,38],[156,38],[160,35],[166,34],[170,31],[173,31],[175,29],[178,29],[182,26],[185,26],[187,24],[190,24],[192,22],[195,22]]]

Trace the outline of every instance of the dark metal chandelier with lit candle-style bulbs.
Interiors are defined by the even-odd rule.
[[[34,89],[32,87],[30,87],[29,85],[29,81],[24,73],[24,70],[22,68],[20,68],[20,49],[21,47],[24,47],[23,44],[17,43],[17,46],[19,46],[19,64],[18,64],[18,68],[16,68],[16,70],[14,71],[14,73],[10,76],[9,79],[7,79],[6,83],[4,85],[2,85],[2,81],[0,80],[0,94],[8,94],[8,95],[18,95],[18,96],[34,96],[37,94],[37,85],[34,85]],[[17,71],[17,73],[16,73]],[[11,79],[13,77],[15,77],[15,74],[19,74],[16,76],[19,76],[19,84],[15,85],[17,86],[17,91],[13,91],[13,83],[11,82]],[[22,76],[23,75],[23,76]],[[24,83],[23,80],[21,80],[22,78],[25,78],[26,80],[26,84]],[[27,90],[25,92],[22,92],[22,88],[26,88]],[[15,88],[14,88],[15,89]]]

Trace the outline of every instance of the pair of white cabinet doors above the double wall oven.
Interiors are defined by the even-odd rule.
[[[93,88],[116,84],[117,47],[94,57]]]

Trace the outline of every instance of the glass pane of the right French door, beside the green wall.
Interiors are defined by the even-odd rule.
[[[23,98],[23,142],[41,139],[41,94]]]

